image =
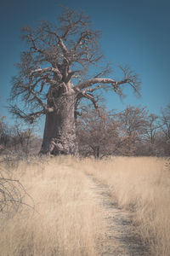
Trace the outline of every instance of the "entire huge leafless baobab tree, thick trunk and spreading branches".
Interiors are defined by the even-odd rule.
[[[10,110],[31,123],[45,114],[41,154],[77,154],[75,119],[82,99],[98,108],[96,91],[111,89],[122,96],[127,84],[138,93],[139,81],[128,67],[122,67],[123,78],[118,81],[105,77],[107,65],[96,73],[103,57],[101,33],[91,28],[86,15],[64,8],[58,23],[42,21],[36,28],[22,29],[27,50],[12,79],[11,100],[17,102]]]

